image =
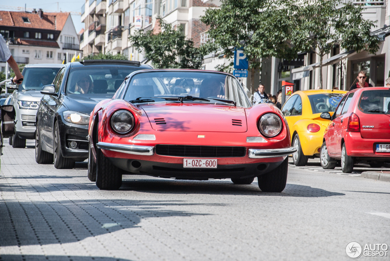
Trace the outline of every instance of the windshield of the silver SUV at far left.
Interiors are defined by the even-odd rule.
[[[23,70],[23,82],[18,86],[19,91],[23,90],[41,90],[44,85],[53,83],[53,80],[58,71],[58,68],[30,68],[26,67]]]

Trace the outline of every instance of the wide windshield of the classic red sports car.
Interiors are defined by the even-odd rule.
[[[128,85],[124,99],[145,102],[160,101],[168,97],[184,97],[182,101],[236,102],[237,106],[251,106],[238,81],[227,74],[191,71],[157,71],[134,75]],[[149,100],[147,100],[149,98]],[[159,99],[161,98],[161,99]],[[203,99],[197,99],[203,98]]]

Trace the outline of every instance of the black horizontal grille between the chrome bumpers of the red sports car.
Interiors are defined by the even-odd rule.
[[[244,157],[245,147],[232,146],[193,146],[193,145],[156,145],[156,154],[174,157],[230,158]]]

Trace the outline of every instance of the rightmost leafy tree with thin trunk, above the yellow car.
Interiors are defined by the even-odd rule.
[[[362,6],[342,2],[345,1],[292,0],[285,5],[294,24],[289,36],[291,43],[319,55],[320,72],[324,55],[335,44],[357,52],[375,53],[379,49],[378,37],[370,35],[374,22],[363,19]],[[322,88],[322,73],[319,76]]]

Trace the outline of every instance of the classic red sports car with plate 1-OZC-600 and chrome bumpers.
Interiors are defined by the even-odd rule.
[[[119,189],[122,174],[230,178],[281,192],[295,152],[287,122],[271,104],[252,106],[231,74],[142,70],[129,74],[89,121],[88,177]]]

